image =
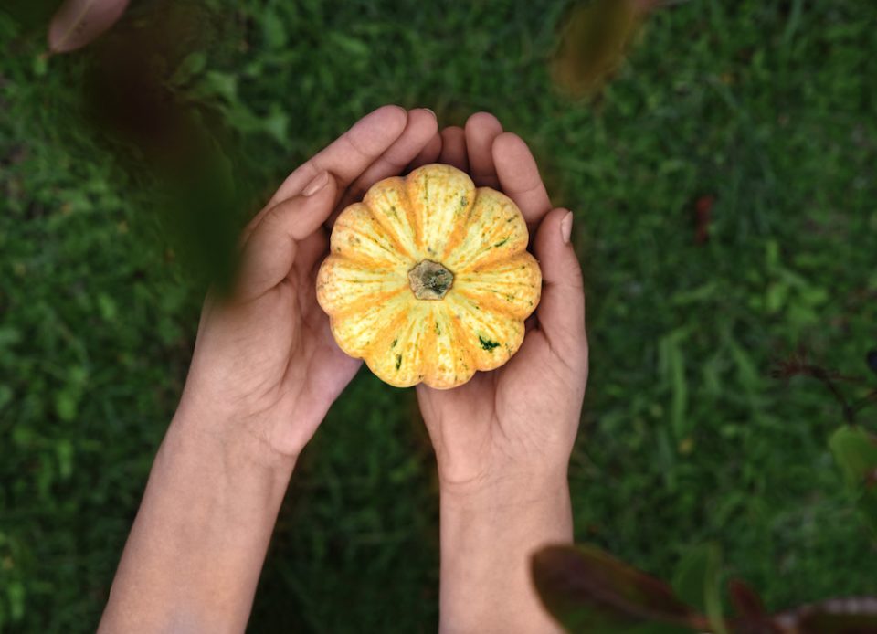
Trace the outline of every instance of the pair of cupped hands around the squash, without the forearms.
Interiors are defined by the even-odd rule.
[[[565,479],[587,377],[573,217],[552,208],[523,140],[486,112],[439,132],[432,111],[384,106],[292,172],[244,230],[232,293],[207,297],[180,410],[267,465],[294,463],[362,363],[334,343],[316,300],[331,223],[375,182],[430,163],[512,198],[544,279],[509,363],[451,390],[417,386],[440,485],[465,495],[500,480]]]

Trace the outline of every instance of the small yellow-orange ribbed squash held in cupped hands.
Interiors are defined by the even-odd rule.
[[[317,275],[341,349],[392,386],[449,388],[512,358],[542,273],[512,200],[449,165],[346,207]]]

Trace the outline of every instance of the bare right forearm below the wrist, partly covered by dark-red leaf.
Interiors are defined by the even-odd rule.
[[[572,538],[565,476],[442,491],[441,632],[560,631],[535,594],[530,557]]]

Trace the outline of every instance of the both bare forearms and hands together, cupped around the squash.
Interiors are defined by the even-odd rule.
[[[496,179],[541,223],[545,278],[539,324],[512,363],[459,390],[418,388],[441,481],[441,629],[553,630],[525,573],[536,544],[571,539],[565,465],[585,388],[584,301],[565,212],[546,215],[533,157],[498,130],[477,114],[465,131],[439,132],[431,111],[385,106],[292,172],[245,228],[234,291],[205,301],[100,632],[246,628],[296,460],[361,364],[338,349],[316,301],[326,227],[377,180],[437,160],[471,164],[477,185]]]

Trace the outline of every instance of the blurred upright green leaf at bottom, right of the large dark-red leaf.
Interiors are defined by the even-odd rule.
[[[682,601],[706,612],[717,634],[726,631],[722,618],[722,598],[719,596],[721,567],[722,551],[717,544],[695,546],[682,557],[671,584]]]

